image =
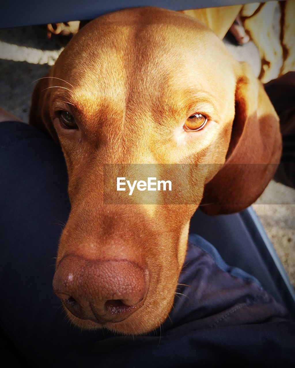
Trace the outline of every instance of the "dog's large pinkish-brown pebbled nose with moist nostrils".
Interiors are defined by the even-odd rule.
[[[53,277],[53,290],[80,319],[120,322],[142,307],[148,289],[146,268],[128,260],[87,260],[67,255]]]

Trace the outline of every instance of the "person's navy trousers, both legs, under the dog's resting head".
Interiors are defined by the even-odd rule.
[[[189,286],[179,285],[161,328],[134,339],[74,328],[52,291],[70,210],[62,153],[33,127],[0,123],[0,169],[0,325],[18,358],[33,367],[294,365],[295,321],[199,236],[191,238],[179,280]]]

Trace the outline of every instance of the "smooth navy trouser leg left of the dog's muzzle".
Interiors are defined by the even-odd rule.
[[[2,122],[0,132],[0,323],[24,356],[50,351],[50,362],[93,337],[70,327],[52,290],[70,211],[66,166],[60,148],[30,125]]]

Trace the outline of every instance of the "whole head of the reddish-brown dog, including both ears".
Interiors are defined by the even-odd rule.
[[[245,208],[280,157],[277,116],[249,68],[205,25],[157,8],[84,26],[36,86],[30,120],[65,155],[72,210],[53,287],[82,328],[158,327],[200,202],[212,214]],[[133,204],[116,204],[109,191],[106,203],[105,178],[136,176],[143,164],[173,177],[178,199],[191,201],[165,203],[156,192],[155,203],[141,204],[136,192]],[[171,171],[176,164],[188,169]]]

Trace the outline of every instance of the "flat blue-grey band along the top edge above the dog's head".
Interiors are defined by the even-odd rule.
[[[282,0],[279,0],[282,1]],[[0,28],[19,27],[47,23],[69,22],[73,19],[94,19],[112,11],[142,7],[156,6],[170,10],[184,10],[207,7],[218,7],[234,4],[251,3],[253,0],[113,0],[94,1],[84,0],[30,0],[23,3],[21,0],[5,1],[1,6]],[[21,9],[21,11],[15,11]]]

